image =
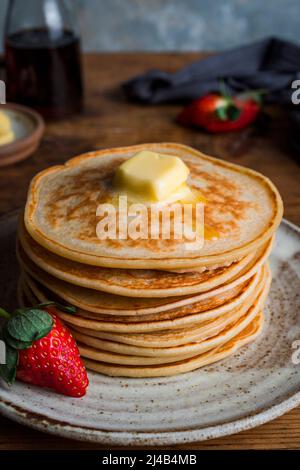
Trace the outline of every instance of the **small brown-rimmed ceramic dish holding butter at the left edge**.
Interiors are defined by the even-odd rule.
[[[15,139],[0,145],[0,167],[10,165],[31,155],[39,146],[45,130],[43,118],[36,111],[19,104],[1,104],[11,119]]]

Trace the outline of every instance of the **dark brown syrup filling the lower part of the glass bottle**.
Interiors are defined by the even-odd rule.
[[[64,30],[24,29],[6,37],[6,86],[9,101],[30,106],[55,119],[82,109],[79,38]]]

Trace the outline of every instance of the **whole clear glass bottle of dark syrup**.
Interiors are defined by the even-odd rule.
[[[80,39],[68,0],[10,0],[5,23],[7,99],[45,118],[82,109]]]

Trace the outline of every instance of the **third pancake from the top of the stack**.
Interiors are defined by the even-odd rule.
[[[202,309],[202,306],[208,310],[221,305],[238,294],[254,272],[265,262],[270,249],[271,246],[264,251],[260,251],[256,258],[253,255],[248,256],[247,258],[251,261],[241,270],[239,277],[235,276],[233,280],[218,288],[210,289],[202,294],[171,298],[125,297],[77,286],[58,279],[39,268],[26,255],[21,246],[17,249],[17,255],[24,271],[65,302],[96,314],[139,316],[152,315],[172,309],[177,309],[178,315],[180,315],[181,312],[185,313],[187,308],[190,313],[193,313],[199,311],[200,308]],[[241,264],[244,264],[244,262],[240,262]],[[90,317],[95,318],[93,315],[90,315]]]

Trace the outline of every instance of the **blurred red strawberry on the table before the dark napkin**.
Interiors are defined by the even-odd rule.
[[[183,109],[177,121],[183,126],[198,126],[209,132],[228,132],[243,129],[253,122],[260,109],[259,92],[235,97],[210,93]]]

